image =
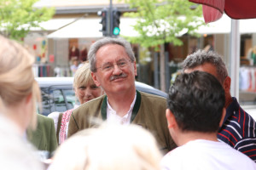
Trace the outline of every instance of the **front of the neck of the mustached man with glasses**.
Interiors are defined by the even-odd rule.
[[[125,116],[125,114],[130,110],[131,103],[135,98],[136,91],[129,92],[126,94],[107,94],[108,103],[111,105],[114,111],[117,112],[119,116]]]

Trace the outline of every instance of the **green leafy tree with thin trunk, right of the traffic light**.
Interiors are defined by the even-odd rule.
[[[125,0],[125,3],[129,3],[130,8],[137,8],[137,12],[125,15],[138,19],[133,27],[139,34],[127,38],[143,47],[160,48],[160,88],[166,91],[164,44],[182,45],[178,35],[197,35],[195,30],[204,24],[203,20],[198,20],[201,6],[188,0]]]

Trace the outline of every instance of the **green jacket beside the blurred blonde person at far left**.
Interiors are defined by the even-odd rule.
[[[38,127],[27,131],[28,140],[38,149],[53,152],[58,144],[53,119],[38,114]]]

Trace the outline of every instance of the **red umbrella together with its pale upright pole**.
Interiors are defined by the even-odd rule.
[[[193,3],[201,3],[205,22],[218,20],[222,14],[229,15],[231,19],[230,38],[230,77],[232,79],[231,94],[239,96],[239,60],[240,60],[240,33],[239,19],[256,18],[255,0],[189,0]],[[233,59],[231,59],[233,58]],[[234,80],[234,81],[233,81]]]

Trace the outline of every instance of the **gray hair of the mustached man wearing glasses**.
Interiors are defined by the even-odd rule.
[[[96,72],[96,52],[99,48],[102,48],[108,44],[118,44],[125,48],[126,54],[128,54],[131,61],[135,61],[135,56],[133,54],[130,42],[127,42],[124,38],[113,38],[113,37],[103,37],[102,39],[94,42],[89,49],[88,59],[90,62],[90,71]]]

